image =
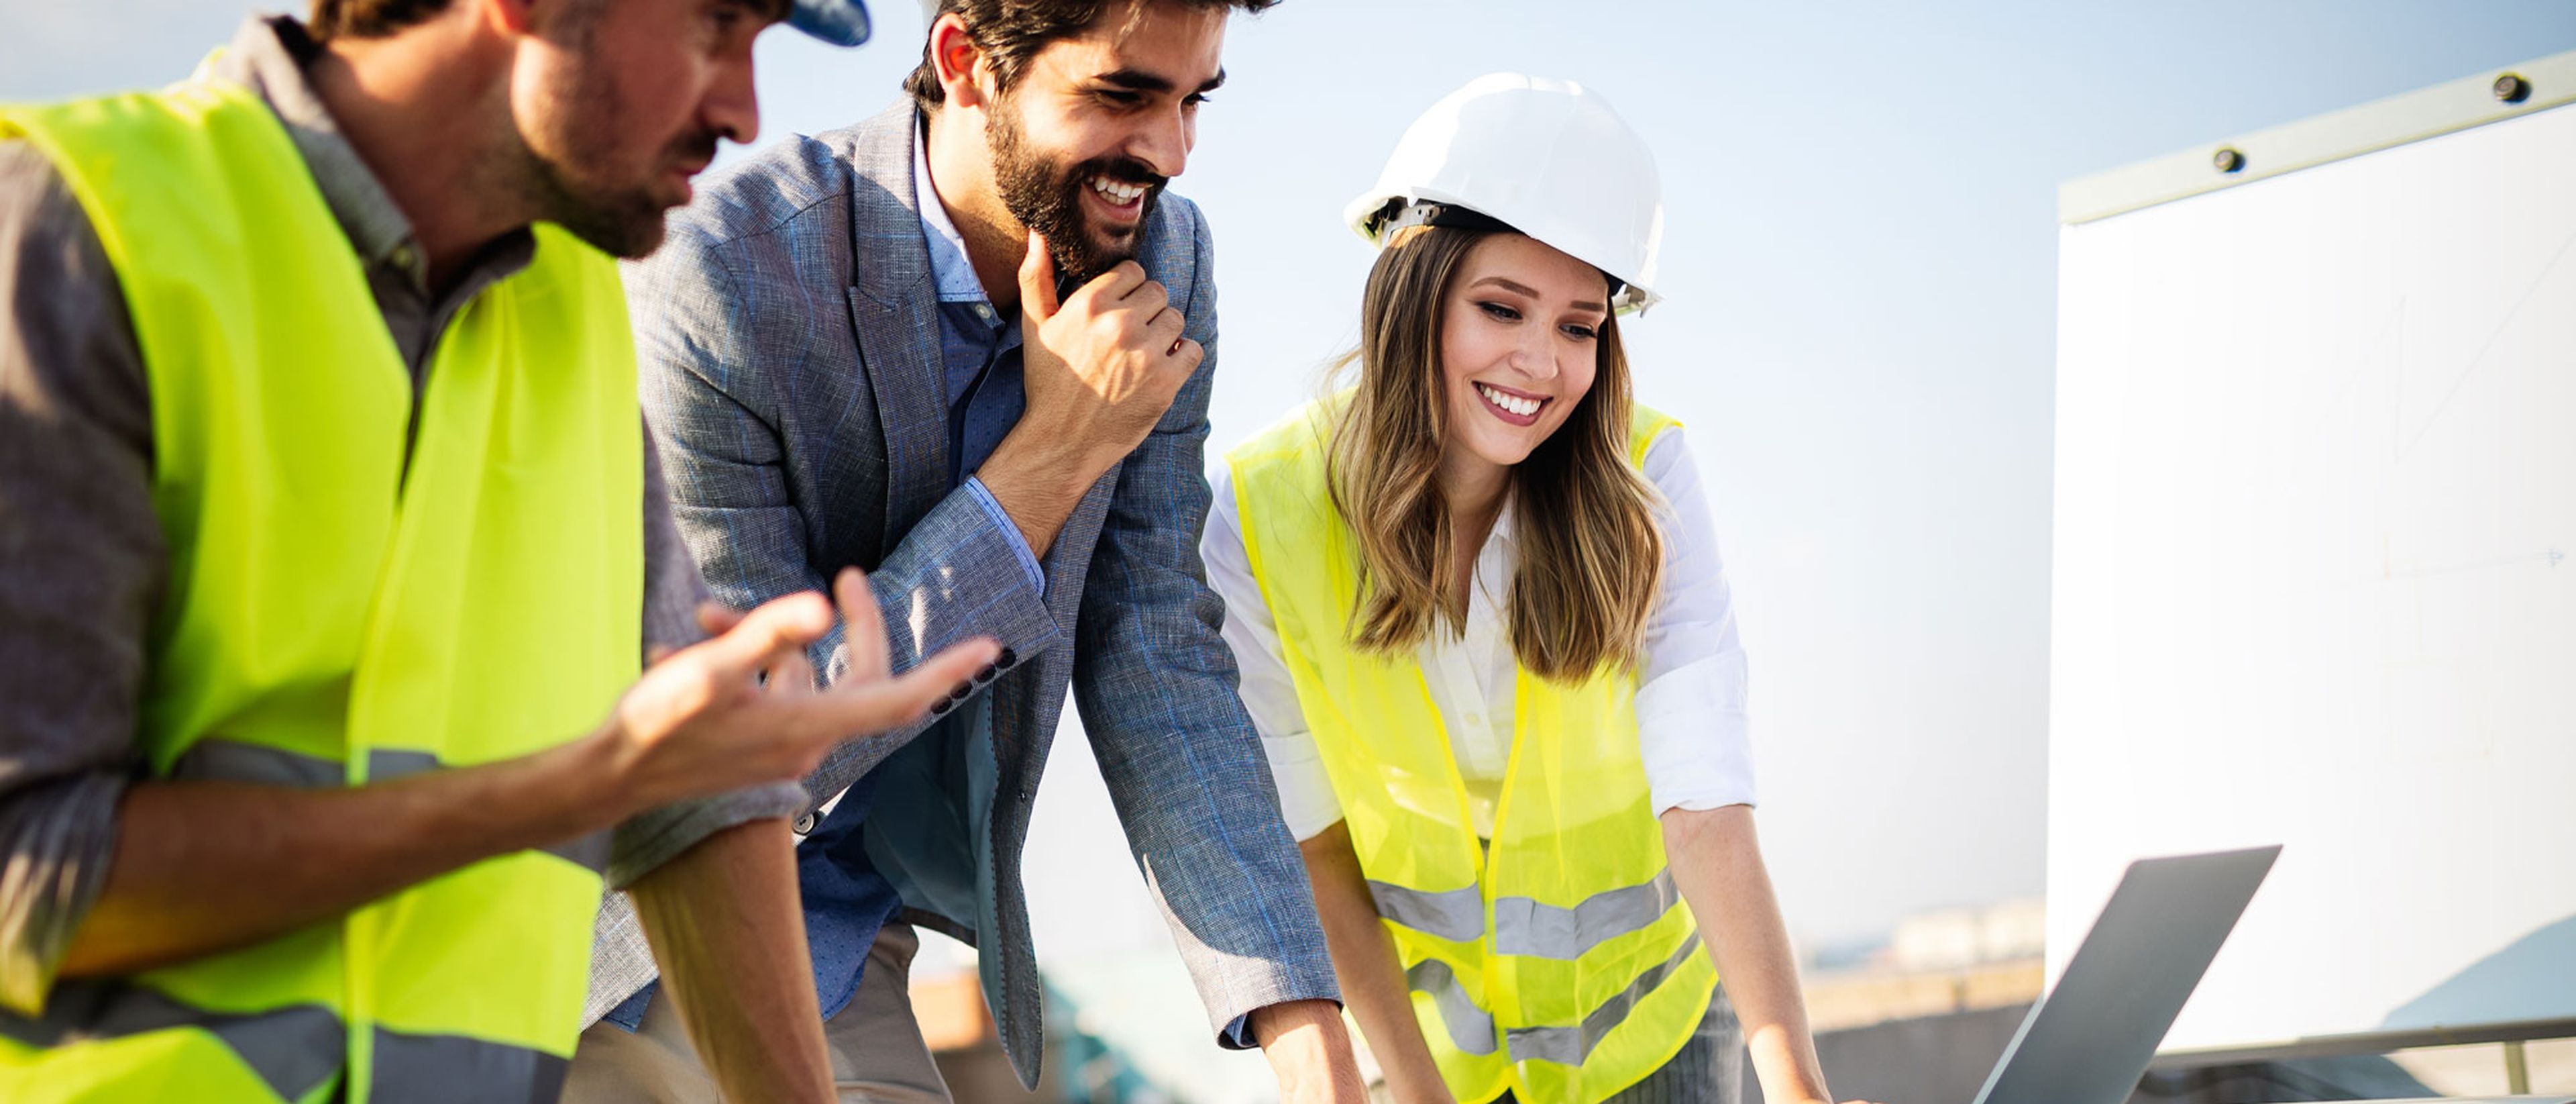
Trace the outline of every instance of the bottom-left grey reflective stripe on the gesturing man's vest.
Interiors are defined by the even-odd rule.
[[[180,1027],[224,1040],[281,1099],[304,1099],[322,1089],[340,1073],[348,1052],[340,1016],[319,1003],[204,1011],[118,978],[54,985],[39,1019],[0,1011],[0,1034],[28,1047],[67,1047]]]

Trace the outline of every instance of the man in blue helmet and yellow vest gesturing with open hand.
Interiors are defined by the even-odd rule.
[[[0,1099],[551,1101],[603,885],[729,1096],[829,1099],[793,779],[994,647],[889,676],[845,573],[817,691],[832,604],[677,544],[613,258],[775,21],[868,34],[317,0],[0,106]]]

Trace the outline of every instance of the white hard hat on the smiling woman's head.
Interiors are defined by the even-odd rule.
[[[1386,245],[1404,224],[1463,224],[1463,206],[1618,279],[1613,310],[1646,310],[1664,240],[1654,155],[1600,93],[1494,72],[1432,103],[1396,142],[1378,186],[1342,217]]]

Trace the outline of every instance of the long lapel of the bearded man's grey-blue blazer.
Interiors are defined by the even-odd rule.
[[[863,124],[850,155],[850,325],[886,433],[884,544],[891,549],[948,495],[948,389],[938,291],[912,193],[920,116],[899,103]]]

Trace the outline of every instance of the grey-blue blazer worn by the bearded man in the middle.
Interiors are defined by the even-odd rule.
[[[984,996],[1023,1081],[1036,1083],[1041,1014],[1020,843],[1066,686],[1211,1029],[1270,1003],[1334,998],[1306,869],[1198,562],[1216,371],[1206,219],[1167,193],[1139,253],[1185,304],[1206,364],[1074,508],[1041,562],[1041,593],[1012,537],[948,488],[938,297],[912,193],[917,134],[907,101],[773,144],[706,181],[662,250],[629,271],[644,410],[680,534],[732,606],[866,567],[896,668],[971,635],[1002,642],[1002,671],[976,689],[992,717],[989,758],[976,764],[989,771],[989,807],[886,823],[881,800],[868,833],[871,854],[891,841],[899,864],[956,867],[945,877],[976,887],[971,916],[907,900],[904,918],[981,949]],[[842,673],[837,637],[817,668]],[[837,794],[930,722],[840,748],[806,792]],[[592,1016],[652,970],[631,916],[603,929]]]

